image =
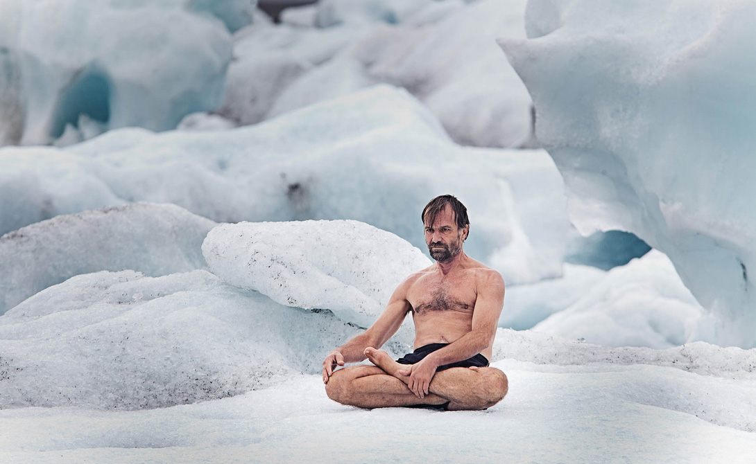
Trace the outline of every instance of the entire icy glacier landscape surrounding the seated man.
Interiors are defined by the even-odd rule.
[[[721,296],[750,263],[750,5],[321,0],[279,24],[254,4],[0,2],[0,145],[54,143],[0,149],[0,462],[751,464],[748,298]],[[162,53],[129,42],[140,15]],[[83,111],[133,75],[149,105]],[[522,149],[528,91],[548,152]],[[330,401],[324,355],[428,265],[442,193],[507,283],[509,394]]]

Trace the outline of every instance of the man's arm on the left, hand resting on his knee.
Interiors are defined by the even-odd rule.
[[[323,383],[328,383],[336,366],[346,363],[364,360],[364,350],[368,346],[380,348],[391,336],[399,330],[404,317],[410,311],[410,303],[407,301],[407,289],[411,285],[414,276],[405,279],[391,296],[389,304],[381,315],[363,333],[352,337],[347,343],[333,349],[323,361]]]

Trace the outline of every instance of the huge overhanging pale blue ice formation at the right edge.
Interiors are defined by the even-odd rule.
[[[501,43],[572,222],[667,254],[722,345],[756,345],[752,2],[529,2]]]

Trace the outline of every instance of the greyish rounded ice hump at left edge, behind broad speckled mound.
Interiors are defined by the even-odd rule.
[[[211,220],[174,204],[137,203],[54,217],[0,237],[0,314],[74,275],[133,269],[166,275],[206,267]]]

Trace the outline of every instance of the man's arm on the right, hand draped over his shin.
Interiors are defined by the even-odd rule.
[[[418,398],[425,398],[430,382],[438,366],[464,361],[491,346],[496,336],[496,327],[504,304],[504,281],[494,271],[486,271],[480,277],[478,296],[472,310],[472,330],[442,349],[427,355],[417,364],[412,364],[399,373],[410,376],[408,387]]]

